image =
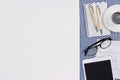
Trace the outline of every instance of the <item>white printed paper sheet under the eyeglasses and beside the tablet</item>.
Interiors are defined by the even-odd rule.
[[[114,76],[120,79],[120,41],[112,41],[110,47],[106,49],[99,47],[96,57],[98,56],[112,57]]]

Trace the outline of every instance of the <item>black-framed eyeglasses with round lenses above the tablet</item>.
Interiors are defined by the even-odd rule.
[[[99,41],[97,41],[96,43],[88,46],[84,52],[85,52],[85,56],[93,56],[97,53],[98,51],[98,46],[100,46],[102,49],[106,49],[111,45],[111,38],[103,38]]]

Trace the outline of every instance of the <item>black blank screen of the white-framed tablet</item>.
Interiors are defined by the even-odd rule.
[[[110,60],[85,63],[84,66],[87,80],[113,80]]]

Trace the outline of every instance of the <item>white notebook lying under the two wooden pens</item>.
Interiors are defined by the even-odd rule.
[[[101,11],[101,18],[102,18],[105,10],[107,9],[107,2],[92,3],[91,5],[93,6],[95,18],[97,21],[96,6],[99,6],[100,11]],[[89,6],[89,4],[84,4],[84,15],[85,15],[85,21],[86,21],[85,24],[86,24],[87,36],[88,37],[95,37],[95,36],[110,35],[110,31],[105,28],[103,23],[102,23],[102,31],[103,31],[102,34],[100,33],[100,30],[98,30],[98,32],[96,31],[96,29],[93,25],[92,19],[91,19],[91,15],[90,15],[90,11],[89,11],[88,6]]]

